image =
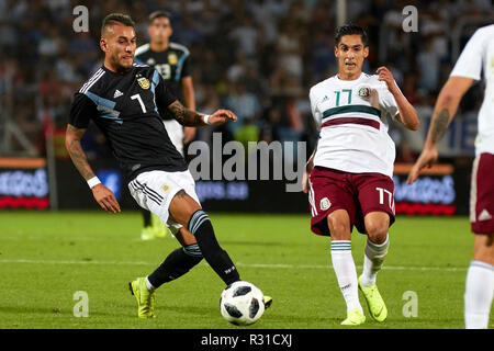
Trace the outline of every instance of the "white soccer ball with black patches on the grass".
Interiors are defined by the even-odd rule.
[[[265,313],[265,295],[249,282],[238,281],[226,286],[220,298],[222,316],[236,326],[256,322]]]

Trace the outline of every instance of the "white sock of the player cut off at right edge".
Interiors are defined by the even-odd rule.
[[[494,295],[494,265],[471,261],[464,291],[464,325],[467,329],[487,329]]]

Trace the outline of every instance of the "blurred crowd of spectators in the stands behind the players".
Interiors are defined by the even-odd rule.
[[[221,129],[223,140],[305,140],[317,138],[308,89],[335,75],[333,50],[336,3],[329,0],[0,0],[0,117],[8,114],[44,155],[44,136],[63,138],[74,92],[102,64],[100,25],[110,12],[131,14],[138,45],[147,42],[147,15],[173,15],[172,41],[189,47],[198,111],[233,110],[239,117]],[[76,33],[74,8],[89,10],[89,32]],[[418,31],[404,32],[403,8],[418,10]],[[452,68],[451,29],[465,16],[493,13],[491,0],[348,0],[348,22],[367,29],[370,56],[364,71],[388,66],[420,117],[431,114],[439,87]],[[474,29],[474,27],[472,27]],[[465,31],[461,44],[472,32]],[[481,97],[464,99],[462,113]],[[199,129],[210,140],[213,127]],[[414,155],[395,124],[397,160]],[[89,157],[108,148],[89,133]],[[64,157],[63,143],[56,145]],[[20,145],[10,146],[12,150]]]

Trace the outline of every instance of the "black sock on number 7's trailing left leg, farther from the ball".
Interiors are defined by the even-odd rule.
[[[165,261],[147,279],[155,288],[158,288],[161,284],[182,276],[201,260],[201,250],[197,244],[179,248],[168,254]]]

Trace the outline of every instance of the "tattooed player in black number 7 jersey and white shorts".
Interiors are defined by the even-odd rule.
[[[128,189],[135,201],[168,226],[188,229],[177,235],[181,248],[168,254],[153,273],[130,283],[138,317],[151,318],[156,288],[186,274],[202,258],[226,285],[240,280],[235,264],[216,240],[195,194],[194,180],[171,144],[159,111],[168,110],[186,126],[220,125],[237,117],[228,110],[204,115],[186,109],[155,68],[134,64],[136,34],[128,15],[112,13],[103,20],[100,47],[104,52],[103,66],[75,94],[66,148],[94,200],[103,210],[119,213],[114,194],[96,177],[80,144],[92,120],[131,180]],[[270,302],[266,296],[265,304]]]

